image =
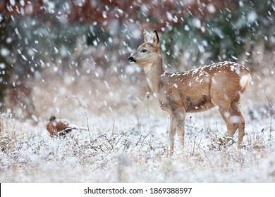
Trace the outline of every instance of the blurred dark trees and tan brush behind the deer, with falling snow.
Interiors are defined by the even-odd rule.
[[[86,101],[99,97],[92,101],[99,111],[129,101],[135,108],[139,99],[123,92],[149,91],[127,59],[144,29],[158,30],[166,70],[236,61],[274,75],[274,12],[275,0],[1,0],[0,106],[33,119],[49,110],[46,118],[62,110],[55,103],[60,92],[75,89]]]

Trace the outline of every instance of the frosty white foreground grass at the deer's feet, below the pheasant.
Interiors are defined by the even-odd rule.
[[[166,120],[158,122],[153,116],[151,131],[140,130],[137,122],[116,129],[123,127],[116,121],[103,134],[91,129],[90,134],[75,131],[65,138],[49,138],[42,127],[15,134],[9,129],[15,127],[14,120],[2,117],[2,122],[11,121],[1,127],[1,182],[275,181],[274,132],[271,138],[267,132],[248,133],[239,150],[234,143],[221,145],[223,132],[190,121],[185,151],[177,146],[169,158]]]

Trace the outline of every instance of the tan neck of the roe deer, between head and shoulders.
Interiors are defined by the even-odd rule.
[[[162,66],[161,53],[157,53],[156,61],[144,66],[143,69],[145,70],[145,75],[149,87],[154,93],[157,93],[159,91],[159,85],[161,84],[161,75],[164,75],[165,73]]]

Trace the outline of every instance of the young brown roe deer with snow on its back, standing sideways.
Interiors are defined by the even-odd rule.
[[[141,65],[147,82],[159,99],[159,105],[170,115],[169,146],[173,155],[174,136],[177,132],[184,146],[185,113],[194,113],[214,106],[226,122],[226,136],[238,129],[238,148],[245,135],[245,119],[240,113],[240,94],[251,81],[250,70],[233,62],[213,63],[187,72],[165,72],[159,49],[159,36],[144,31],[145,43],[128,58],[130,63]]]

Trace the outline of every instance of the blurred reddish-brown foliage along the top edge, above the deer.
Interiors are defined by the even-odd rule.
[[[41,18],[49,14],[42,11],[43,0],[24,0],[23,2],[24,4],[15,1],[15,4],[11,5],[11,2],[6,0],[4,3],[0,3],[0,11],[6,15],[39,15]],[[166,27],[167,24],[181,25],[184,16],[187,14],[204,19],[207,15],[215,15],[216,11],[221,8],[235,9],[238,7],[238,2],[231,0],[92,0],[79,2],[71,0],[70,8],[65,13],[68,16],[69,23],[91,23],[106,27],[115,21],[127,24],[131,20],[133,22],[138,21],[142,28],[147,28],[150,25],[151,29],[161,29],[161,27]],[[56,13],[50,14],[54,15]]]

